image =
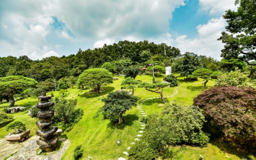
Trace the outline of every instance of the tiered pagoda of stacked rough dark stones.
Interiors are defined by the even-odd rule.
[[[36,131],[36,134],[40,138],[36,143],[40,146],[43,151],[52,151],[56,147],[57,141],[59,139],[58,135],[55,135],[55,132],[58,130],[58,127],[52,126],[52,116],[54,115],[54,110],[50,109],[54,105],[54,102],[49,101],[52,97],[46,96],[45,92],[42,92],[41,96],[38,97],[40,101],[36,107],[40,109],[37,113],[37,118],[40,118],[36,122],[39,130]]]

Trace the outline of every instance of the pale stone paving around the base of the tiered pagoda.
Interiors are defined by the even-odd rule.
[[[39,136],[32,136],[24,142],[11,144],[5,139],[0,139],[0,159],[7,158],[7,160],[60,160],[66,150],[69,148],[71,142],[69,139],[59,139],[63,141],[63,146],[59,151],[48,153],[48,155],[37,155],[36,150],[38,145],[36,140]],[[16,152],[16,153],[15,153]]]

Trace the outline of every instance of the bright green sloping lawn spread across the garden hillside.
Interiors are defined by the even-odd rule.
[[[78,108],[82,108],[84,115],[82,119],[73,127],[70,132],[64,132],[64,136],[70,139],[71,146],[66,151],[62,159],[72,159],[73,150],[78,145],[82,145],[83,157],[82,159],[87,159],[88,156],[95,160],[107,160],[107,159],[117,159],[119,157],[128,158],[127,155],[123,154],[123,151],[127,151],[126,148],[131,146],[131,142],[134,142],[137,134],[140,131],[140,118],[142,117],[135,107],[126,111],[123,116],[124,123],[121,126],[116,126],[111,124],[109,120],[103,120],[102,116],[98,118],[93,118],[97,113],[97,110],[104,104],[101,99],[107,96],[109,92],[121,89],[121,81],[124,77],[120,76],[119,80],[115,80],[113,84],[103,87],[104,91],[100,94],[88,93],[88,90],[79,90],[77,88],[68,89],[66,98],[77,99]],[[162,80],[164,77],[156,77],[156,80]],[[183,80],[184,77],[178,77],[179,81],[179,91],[173,97],[168,97],[173,94],[175,87],[164,88],[164,96],[166,96],[166,101],[180,101],[184,104],[192,105],[193,97],[197,96],[200,92],[204,90],[203,82],[204,79],[200,79],[195,82],[186,82]],[[136,80],[152,82],[152,76],[149,75],[138,75]],[[209,80],[207,83],[208,88],[213,87],[214,81]],[[58,92],[53,92],[55,96],[58,96]],[[50,93],[47,93],[50,95]],[[139,101],[151,97],[159,97],[160,94],[149,92],[143,88],[135,88],[135,96],[139,97]],[[100,97],[100,100],[98,99]],[[15,106],[30,103],[37,104],[39,101],[37,97],[29,97],[28,99],[18,100]],[[9,104],[3,103],[0,105],[0,113],[3,112],[4,106]],[[160,113],[163,104],[161,104],[161,99],[151,99],[146,101],[142,108],[149,114]],[[19,120],[26,124],[27,129],[31,129],[31,134],[35,135],[38,127],[36,126],[36,118],[31,118],[28,116],[27,111],[20,113],[13,113],[15,121]],[[0,128],[0,138],[7,135],[8,132],[5,131],[5,127]],[[121,139],[121,145],[117,145],[117,139]],[[218,145],[214,143],[209,143],[205,148],[198,148],[193,146],[185,147],[171,147],[168,152],[168,157],[170,159],[192,159],[198,160],[199,154],[203,155],[205,159],[219,160],[219,159],[232,159],[239,160],[243,157],[238,157],[234,152],[226,153],[220,150]],[[252,157],[253,158],[253,157]]]

